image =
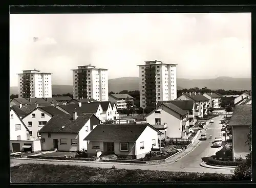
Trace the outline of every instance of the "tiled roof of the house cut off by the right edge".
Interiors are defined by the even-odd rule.
[[[250,126],[251,125],[251,105],[235,106],[229,125],[230,126]]]

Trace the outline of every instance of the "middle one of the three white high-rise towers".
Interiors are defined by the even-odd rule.
[[[89,64],[72,71],[74,99],[109,100],[108,69]]]

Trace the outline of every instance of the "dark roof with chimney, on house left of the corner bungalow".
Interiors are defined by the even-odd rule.
[[[55,115],[39,132],[78,133],[93,115],[79,115],[76,120],[73,120],[73,114]]]

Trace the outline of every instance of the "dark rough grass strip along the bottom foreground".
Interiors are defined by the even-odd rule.
[[[79,173],[78,173],[79,172]],[[23,164],[11,168],[12,183],[100,183],[160,181],[228,181],[232,175],[103,169],[69,165]]]

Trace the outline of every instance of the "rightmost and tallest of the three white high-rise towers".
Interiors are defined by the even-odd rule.
[[[139,66],[140,107],[155,107],[157,101],[177,98],[176,65],[145,61]]]

